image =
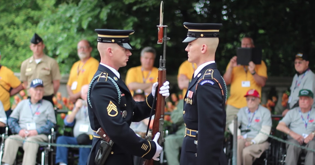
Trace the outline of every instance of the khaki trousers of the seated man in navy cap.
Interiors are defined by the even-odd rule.
[[[21,139],[22,138],[19,135],[11,135],[9,137],[12,137],[14,139]],[[40,134],[32,137],[26,138],[28,141],[37,141],[37,142],[47,142],[48,137],[47,135]],[[5,141],[5,149],[4,149],[4,155],[2,162],[8,163],[8,164],[13,164],[14,160],[16,158],[17,152],[19,147],[23,146],[24,150],[24,155],[23,155],[23,162],[22,165],[34,165],[36,163],[36,154],[38,151],[38,147],[40,145],[35,144],[35,143],[30,143],[30,142],[24,142],[23,141],[18,141],[18,140],[13,140],[13,139],[6,139]]]

